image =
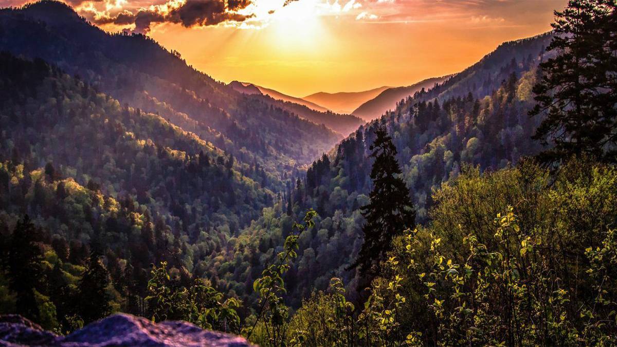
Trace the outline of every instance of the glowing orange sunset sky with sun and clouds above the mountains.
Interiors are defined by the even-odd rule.
[[[216,80],[292,96],[411,85],[550,30],[567,0],[64,0]],[[19,5],[23,0],[0,0]]]

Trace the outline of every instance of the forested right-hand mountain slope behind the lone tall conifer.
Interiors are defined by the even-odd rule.
[[[268,246],[283,242],[292,220],[309,208],[317,211],[315,227],[300,234],[299,259],[286,278],[292,304],[313,290],[326,290],[332,277],[347,283],[354,298],[358,278],[347,268],[362,245],[360,207],[369,201],[376,127],[386,127],[392,136],[420,224],[430,219],[433,191],[465,165],[497,170],[540,151],[531,140],[540,119],[530,119],[528,111],[537,64],[550,40],[547,33],[503,43],[441,85],[407,96],[315,161],[286,198],[242,233],[242,243],[270,254]]]

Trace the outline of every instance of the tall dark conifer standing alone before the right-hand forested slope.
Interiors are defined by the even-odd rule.
[[[376,275],[379,261],[391,249],[392,238],[407,228],[415,227],[416,212],[405,182],[399,177],[401,170],[396,160],[396,148],[386,129],[375,130],[375,141],[370,146],[375,158],[371,169],[373,190],[370,203],[362,207],[366,224],[362,228],[364,243],[352,267],[360,266],[366,278]]]

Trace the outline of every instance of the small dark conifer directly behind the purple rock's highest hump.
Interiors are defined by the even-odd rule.
[[[101,254],[93,247],[88,268],[79,283],[80,316],[88,324],[111,313],[109,272],[101,261]]]

